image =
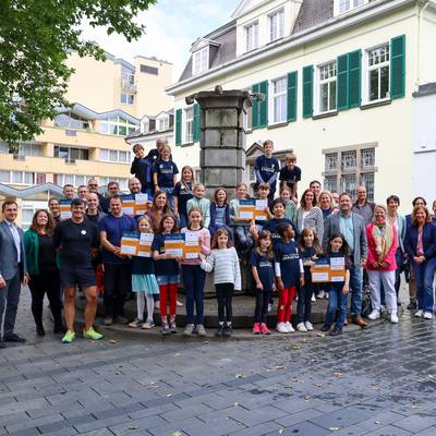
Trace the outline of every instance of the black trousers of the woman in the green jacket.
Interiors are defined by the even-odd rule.
[[[59,292],[59,271],[57,269],[50,269],[41,270],[37,276],[31,275],[28,287],[32,294],[32,313],[34,315],[35,324],[37,326],[43,326],[44,295],[47,293],[48,301],[50,302],[50,310],[55,319],[55,326],[61,326],[62,303]]]

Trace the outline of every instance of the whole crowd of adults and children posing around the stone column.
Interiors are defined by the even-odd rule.
[[[277,326],[280,334],[294,331],[292,304],[296,303],[296,329],[311,331],[314,298],[328,298],[323,331],[340,335],[354,323],[362,328],[363,288],[371,289],[370,319],[380,317],[386,306],[389,319],[398,323],[401,272],[408,272],[410,302],[415,316],[433,317],[433,278],[436,269],[436,227],[422,197],[413,201],[408,216],[398,213],[400,199],[391,195],[385,205],[367,201],[366,189],[359,186],[356,202],[351,195],[322,191],[318,181],[298,194],[301,169],[296,156],[287,156],[280,169],[272,156],[271,141],[264,143],[264,155],[256,159],[256,198],[259,215],[241,214],[249,186],[239,183],[234,198],[226,189],[207,198],[206,189],[194,181],[194,171],[172,161],[171,148],[159,140],[147,156],[135,145],[134,177],[130,194],[147,194],[145,214],[126,215],[117,182],[108,184],[107,195],[98,182],[77,189],[65,185],[71,217],[61,219],[60,202],[50,198],[48,210],[37,210],[24,233],[15,225],[17,205],[7,199],[0,225],[0,325],[5,342],[23,342],[14,332],[21,284],[28,284],[36,332],[45,335],[44,298],[52,312],[55,334],[62,342],[75,339],[75,295],[86,298],[83,336],[98,340],[94,329],[99,290],[102,290],[105,325],[126,324],[126,295],[133,293],[137,316],[132,328],[155,327],[154,311],[159,308],[162,335],[177,332],[178,290],[181,279],[185,294],[185,336],[205,336],[204,291],[206,274],[214,272],[218,302],[216,336],[232,335],[232,295],[241,290],[241,266],[251,272],[255,294],[254,335],[269,335],[268,312],[278,292]],[[277,183],[279,179],[279,183]],[[276,195],[277,184],[279,194]],[[434,205],[435,206],[435,205]],[[257,207],[257,206],[256,206]],[[149,256],[122,253],[124,232],[154,233]],[[166,238],[172,233],[194,233],[199,253],[190,258],[173,258],[166,253]],[[317,282],[314,266],[336,265],[343,274],[336,280]],[[351,298],[350,298],[350,295]],[[349,308],[349,302],[351,306]],[[62,319],[62,310],[65,326]],[[2,323],[4,313],[4,323]],[[347,315],[350,315],[348,317]]]

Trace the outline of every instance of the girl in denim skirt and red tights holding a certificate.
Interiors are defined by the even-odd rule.
[[[179,288],[179,261],[169,258],[166,253],[166,237],[177,233],[177,222],[173,215],[164,215],[160,221],[159,232],[155,235],[152,244],[153,258],[155,262],[156,279],[160,293],[160,316],[162,319],[162,335],[177,334],[175,310],[177,293]],[[167,304],[170,302],[170,318],[167,316]]]

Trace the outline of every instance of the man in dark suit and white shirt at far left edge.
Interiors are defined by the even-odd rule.
[[[14,334],[13,330],[20,302],[21,283],[27,286],[28,275],[24,251],[24,233],[15,225],[19,206],[15,202],[7,199],[1,211],[4,219],[0,222],[0,329],[3,327],[0,348],[4,348],[4,342],[26,341]]]

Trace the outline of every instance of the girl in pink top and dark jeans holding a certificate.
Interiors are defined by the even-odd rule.
[[[204,328],[204,288],[206,272],[201,268],[199,253],[210,253],[210,233],[203,227],[203,215],[193,207],[187,214],[187,227],[181,230],[184,233],[185,256],[182,261],[182,277],[186,295],[186,327],[184,336],[206,336]],[[196,316],[194,317],[194,306]]]

